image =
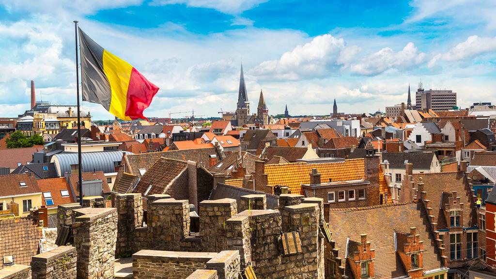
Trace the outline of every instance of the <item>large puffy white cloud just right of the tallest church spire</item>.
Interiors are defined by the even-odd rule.
[[[249,72],[259,77],[291,80],[322,77],[339,70],[359,50],[357,46],[347,46],[344,39],[325,34],[316,36],[310,43],[298,45],[279,60],[264,61]]]

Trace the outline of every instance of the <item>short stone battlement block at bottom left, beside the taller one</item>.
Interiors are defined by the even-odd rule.
[[[33,279],[76,279],[76,248],[59,246],[31,258]]]

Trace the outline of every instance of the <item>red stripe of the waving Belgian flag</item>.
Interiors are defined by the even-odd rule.
[[[132,68],[129,86],[127,87],[127,103],[125,115],[131,119],[147,119],[143,111],[150,106],[158,87],[148,81],[139,71]]]

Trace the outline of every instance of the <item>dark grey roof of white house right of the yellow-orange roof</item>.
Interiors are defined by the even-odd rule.
[[[389,162],[389,168],[404,169],[405,161],[413,164],[413,169],[430,169],[434,153],[382,153],[382,162]]]

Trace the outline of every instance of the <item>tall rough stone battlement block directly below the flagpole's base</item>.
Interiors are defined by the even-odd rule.
[[[114,276],[117,210],[84,208],[72,223],[77,249],[78,279],[110,279]]]

